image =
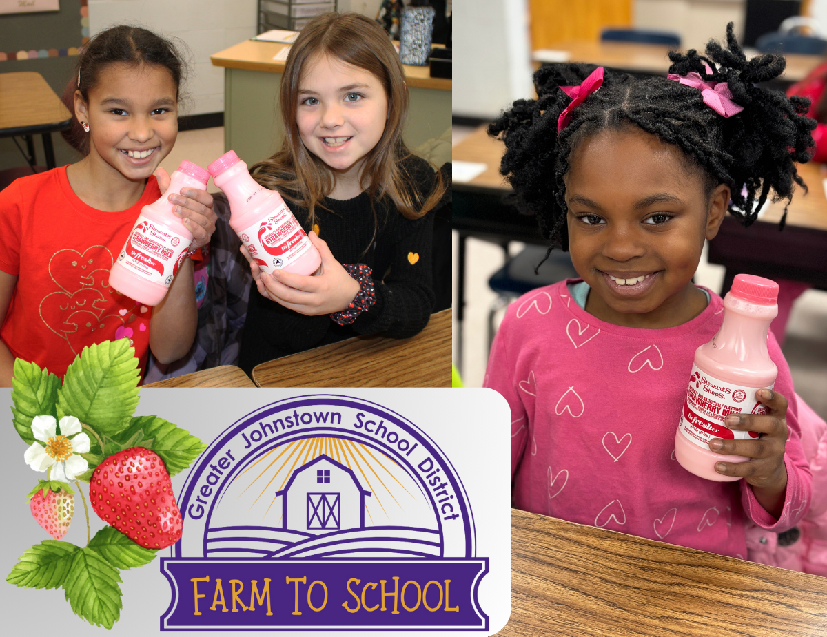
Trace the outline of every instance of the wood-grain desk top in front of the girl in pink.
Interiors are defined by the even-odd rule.
[[[816,637],[827,578],[512,511],[501,637]]]

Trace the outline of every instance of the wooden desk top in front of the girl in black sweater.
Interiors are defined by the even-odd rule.
[[[259,387],[451,387],[451,310],[409,339],[357,336],[257,365]]]

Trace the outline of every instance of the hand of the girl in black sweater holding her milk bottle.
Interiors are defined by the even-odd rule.
[[[243,245],[241,253],[250,262],[256,288],[262,297],[306,316],[342,311],[356,297],[361,286],[336,260],[327,243],[313,231],[308,237],[322,257],[322,265],[313,276],[280,270],[273,270],[270,275],[261,271]]]

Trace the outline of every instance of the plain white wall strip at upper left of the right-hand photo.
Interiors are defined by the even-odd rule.
[[[454,0],[456,116],[493,118],[531,97],[527,0]]]

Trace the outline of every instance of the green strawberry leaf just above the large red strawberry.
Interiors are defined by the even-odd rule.
[[[109,454],[110,443],[107,441],[104,444]],[[115,444],[121,447],[118,451],[131,447],[143,447],[154,451],[164,461],[170,476],[184,471],[204,449],[207,449],[207,445],[189,431],[159,416],[132,418],[127,429],[112,437],[112,444],[112,449],[116,449]]]

